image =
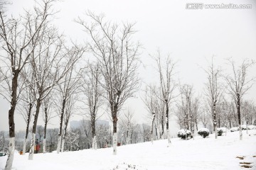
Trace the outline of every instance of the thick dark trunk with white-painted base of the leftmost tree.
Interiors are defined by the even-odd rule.
[[[14,68],[13,68],[14,69]],[[11,108],[9,110],[9,156],[6,162],[5,170],[11,170],[14,162],[14,149],[15,149],[15,123],[14,111],[17,104],[17,87],[18,87],[18,70],[12,70],[13,78],[11,80]]]

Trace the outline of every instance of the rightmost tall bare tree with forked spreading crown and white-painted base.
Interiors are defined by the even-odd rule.
[[[240,104],[242,97],[252,87],[255,78],[248,78],[248,69],[255,64],[254,61],[243,60],[240,67],[235,67],[235,62],[230,59],[228,60],[232,67],[233,74],[229,74],[225,77],[228,84],[228,93],[232,96],[235,101],[235,106],[238,114],[238,124],[240,131],[240,140],[242,140],[242,128],[241,128],[241,113]]]

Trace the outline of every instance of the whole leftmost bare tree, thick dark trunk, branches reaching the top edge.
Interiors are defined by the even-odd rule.
[[[4,13],[4,8],[1,4],[0,10],[0,37],[3,49],[6,51],[6,56],[2,57],[1,62],[4,62],[9,68],[7,72],[12,75],[11,86],[11,108],[9,110],[9,157],[6,162],[5,170],[10,170],[14,160],[15,147],[15,124],[14,112],[18,100],[17,88],[18,77],[23,67],[28,63],[36,42],[41,34],[43,24],[47,22],[48,16],[52,14],[51,6],[53,0],[39,1],[34,7],[33,13],[25,11],[25,14],[20,18],[7,18]]]

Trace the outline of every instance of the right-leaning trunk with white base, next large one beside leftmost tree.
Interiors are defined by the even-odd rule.
[[[36,114],[35,114],[35,118],[34,118],[34,122],[33,122],[33,130],[32,130],[32,133],[33,133],[33,135],[35,135],[35,137],[33,137],[31,140],[31,148],[30,148],[29,156],[28,156],[29,160],[33,160],[33,153],[35,150],[34,147],[35,147],[35,141],[36,141],[36,125],[37,125],[37,121],[38,121],[40,106],[41,106],[41,95],[36,99]]]

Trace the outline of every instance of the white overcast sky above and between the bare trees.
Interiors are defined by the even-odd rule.
[[[9,0],[10,1],[10,0]],[[252,4],[251,9],[186,9],[187,3],[204,4]],[[31,0],[13,1],[9,13],[22,13],[30,8]],[[143,66],[139,69],[143,81],[155,79],[149,54],[159,47],[163,55],[171,54],[178,61],[176,72],[181,83],[193,84],[196,94],[203,91],[206,81],[201,67],[206,67],[206,59],[215,56],[216,64],[223,70],[230,69],[225,58],[233,57],[235,62],[244,58],[256,60],[256,1],[149,1],[149,0],[63,0],[55,6],[60,12],[55,24],[67,38],[82,42],[87,40],[74,18],[84,16],[85,11],[105,13],[114,22],[136,22],[137,33],[134,40],[142,43]],[[90,57],[90,55],[87,55]],[[250,69],[250,76],[256,76],[256,66]],[[246,98],[254,99],[256,84]],[[146,122],[146,110],[142,101],[133,98],[127,102],[137,114],[137,122]],[[8,130],[9,104],[0,99],[0,130]],[[42,123],[38,123],[39,125]],[[55,123],[58,125],[58,123]],[[23,130],[23,120],[16,115],[16,130]]]

